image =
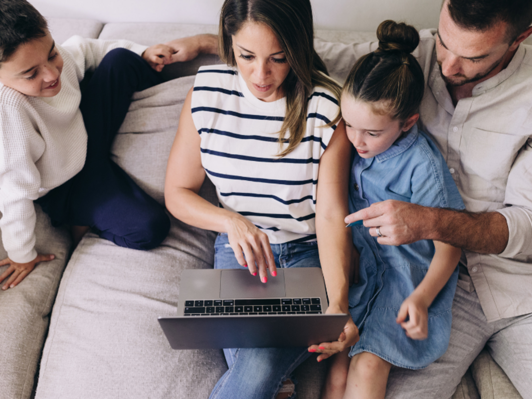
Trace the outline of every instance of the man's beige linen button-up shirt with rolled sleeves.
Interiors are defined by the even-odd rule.
[[[464,251],[468,274],[488,321],[532,313],[532,46],[521,44],[510,64],[453,105],[440,75],[436,30],[420,31],[413,55],[425,72],[419,127],[437,143],[471,212],[497,211],[510,237],[498,255]],[[315,42],[331,76],[344,81],[377,43]]]

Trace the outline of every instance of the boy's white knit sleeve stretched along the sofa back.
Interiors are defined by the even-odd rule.
[[[148,48],[148,46],[136,44],[129,40],[86,39],[81,36],[72,36],[62,44],[62,47],[72,55],[77,68],[79,68],[78,78],[81,74],[81,79],[86,71],[96,69],[105,54],[112,49],[122,47],[142,55]]]

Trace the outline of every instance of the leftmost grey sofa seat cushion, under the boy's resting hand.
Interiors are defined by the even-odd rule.
[[[38,264],[16,287],[0,290],[0,396],[3,398],[31,395],[50,312],[69,256],[68,231],[53,228],[40,206],[35,208],[35,247],[40,254],[54,254],[55,259]],[[0,234],[0,259],[5,259],[7,254],[1,243]],[[0,267],[0,274],[6,269],[7,266]]]

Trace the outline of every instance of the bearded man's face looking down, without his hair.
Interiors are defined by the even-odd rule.
[[[443,4],[436,35],[436,55],[447,85],[462,86],[495,76],[511,59],[505,22],[487,31],[467,30],[452,20]]]

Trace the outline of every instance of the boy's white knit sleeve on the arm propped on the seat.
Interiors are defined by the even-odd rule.
[[[23,112],[0,109],[0,229],[7,256],[17,263],[32,261],[35,251],[35,207],[40,173],[35,161],[44,142]],[[13,134],[13,126],[20,127]],[[6,132],[10,134],[6,134]]]

